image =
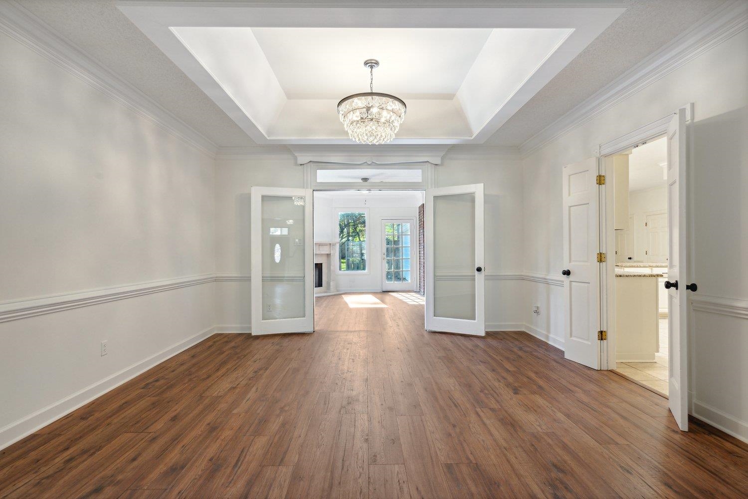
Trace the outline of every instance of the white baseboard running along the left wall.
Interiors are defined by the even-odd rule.
[[[20,420],[4,426],[4,428],[0,428],[0,449],[4,449],[10,444],[14,444],[22,438],[31,435],[31,433],[36,432],[37,429],[47,426],[49,423],[60,419],[66,414],[70,414],[70,412],[73,412],[77,408],[91,402],[91,400],[101,397],[113,388],[117,388],[124,382],[144,373],[151,367],[156,366],[156,364],[160,364],[168,358],[174,357],[174,355],[188,349],[190,346],[200,343],[200,341],[211,336],[214,329],[215,327],[211,326],[200,331],[194,336],[188,337],[186,340],[182,340],[179,343],[170,346],[168,349],[162,350],[155,355],[151,355],[149,358],[132,364],[131,366],[126,367],[125,369],[120,370],[91,386],[83,388],[81,391],[77,391],[75,394],[47,405],[45,408],[42,408],[33,414],[29,414]]]

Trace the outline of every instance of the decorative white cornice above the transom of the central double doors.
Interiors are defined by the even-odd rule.
[[[348,165],[396,165],[399,163],[441,164],[441,158],[452,144],[428,145],[317,145],[291,144],[296,162],[344,163]]]

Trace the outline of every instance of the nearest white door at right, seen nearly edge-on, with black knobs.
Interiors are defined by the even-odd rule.
[[[687,196],[686,109],[681,108],[672,117],[667,129],[667,224],[668,243],[668,337],[669,383],[668,405],[678,427],[688,429],[688,377],[687,377],[687,274],[688,246],[681,228],[688,227],[686,212],[681,206]],[[672,285],[671,285],[672,283]]]

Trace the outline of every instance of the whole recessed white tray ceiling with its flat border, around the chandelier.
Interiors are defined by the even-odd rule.
[[[119,8],[258,144],[350,144],[336,105],[368,90],[367,58],[408,104],[393,143],[481,144],[624,10]]]

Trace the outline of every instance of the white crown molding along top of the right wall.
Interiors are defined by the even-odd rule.
[[[718,7],[711,16],[527,139],[520,146],[521,155],[528,156],[562,135],[588,123],[747,27],[748,2],[729,1]]]

